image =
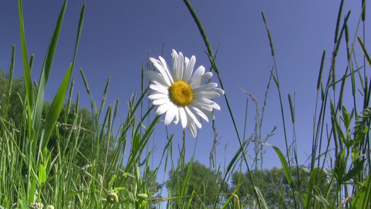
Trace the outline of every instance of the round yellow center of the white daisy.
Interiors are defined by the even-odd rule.
[[[168,88],[168,96],[177,106],[185,107],[194,100],[194,91],[187,82],[177,81]]]

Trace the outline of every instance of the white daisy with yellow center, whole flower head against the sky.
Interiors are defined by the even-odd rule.
[[[220,110],[218,104],[210,100],[224,94],[218,84],[205,84],[212,77],[212,72],[206,72],[201,65],[193,73],[196,57],[191,59],[184,57],[182,52],[173,49],[173,72],[169,70],[166,61],[159,56],[159,60],[150,58],[159,72],[148,70],[145,75],[152,84],[153,92],[148,96],[153,104],[158,105],[157,115],[166,113],[165,125],[174,120],[176,125],[179,121],[182,127],[188,127],[193,137],[197,135],[197,129],[202,125],[196,115],[205,121],[214,120],[213,109]]]

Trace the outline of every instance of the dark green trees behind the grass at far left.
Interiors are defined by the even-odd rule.
[[[26,118],[23,118],[25,114],[24,107],[25,103],[25,89],[24,89],[24,77],[13,78],[10,94],[7,94],[9,88],[9,73],[3,73],[0,69],[0,107],[8,105],[7,108],[0,108],[0,115],[5,117],[7,121],[13,123],[17,129],[26,129],[26,123],[23,123]],[[36,88],[33,86],[34,95],[36,95]],[[50,108],[50,102],[45,101],[42,109],[42,118],[45,118]],[[71,129],[79,128],[79,134],[77,132],[70,132]],[[61,110],[61,114],[58,117],[58,123],[56,129],[52,133],[52,137],[49,139],[47,148],[52,150],[53,156],[55,157],[58,153],[58,149],[63,152],[69,152],[73,148],[79,148],[77,153],[76,164],[82,165],[86,163],[86,158],[92,154],[92,140],[93,140],[93,119],[91,112],[86,108],[82,107],[77,110],[77,104],[73,103],[70,107],[64,107]],[[71,134],[69,136],[69,134]],[[18,137],[19,147],[24,146],[24,137]],[[77,144],[74,141],[77,139]],[[58,143],[60,147],[58,148]],[[78,147],[76,147],[78,146]],[[104,141],[102,141],[102,149]],[[104,149],[106,150],[106,149]]]

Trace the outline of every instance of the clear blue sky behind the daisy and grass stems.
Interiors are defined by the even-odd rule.
[[[281,92],[285,105],[288,138],[292,139],[290,109],[287,94],[296,93],[296,131],[300,163],[310,155],[313,137],[316,84],[322,52],[326,49],[324,77],[329,72],[333,38],[338,15],[339,1],[191,1],[211,45],[219,53],[216,64],[226,87],[232,111],[236,116],[239,132],[243,133],[246,95],[239,88],[252,93],[259,102],[261,111],[265,90],[273,66],[271,49],[261,11],[265,12],[274,41]],[[35,54],[33,79],[38,80],[45,52],[52,36],[63,1],[24,1],[26,42],[29,54]],[[56,50],[52,74],[49,77],[46,98],[51,100],[62,76],[72,61],[77,33],[79,12],[83,1],[70,1],[66,10],[61,36]],[[361,1],[345,1],[343,17],[352,10],[349,18],[350,38],[353,40],[358,22]],[[368,26],[370,28],[370,25]],[[0,67],[8,72],[12,45],[16,45],[15,76],[22,75],[22,59],[19,42],[17,1],[0,3]],[[81,103],[88,106],[79,68],[84,70],[94,99],[100,104],[104,85],[112,72],[107,102],[120,98],[120,113],[125,116],[127,101],[141,88],[141,66],[148,61],[148,51],[156,58],[161,55],[171,63],[171,49],[185,56],[196,56],[196,66],[210,68],[205,55],[206,47],[183,1],[97,1],[88,0],[84,28],[81,35],[77,61],[74,65],[74,98],[81,92]],[[368,49],[371,49],[370,45]],[[358,53],[359,46],[355,45]],[[344,60],[345,44],[340,47],[338,61]],[[344,72],[346,63],[338,63],[338,75]],[[216,75],[212,82],[217,82]],[[359,95],[358,95],[359,96]],[[239,148],[235,131],[228,114],[226,102],[217,98],[221,111],[215,111],[216,128],[220,144],[217,148],[217,163],[229,162]],[[262,137],[276,125],[276,134],[269,143],[285,150],[281,110],[274,83],[268,94]],[[88,106],[89,107],[89,106]],[[255,107],[249,100],[248,135],[253,133]],[[175,132],[174,150],[182,141],[180,125],[169,126]],[[166,144],[157,125],[155,144],[161,155]],[[212,148],[211,123],[203,123],[199,130],[195,158],[209,164]],[[195,139],[187,133],[187,159],[191,156]],[[224,153],[225,145],[228,144]],[[276,154],[265,148],[265,167],[280,167]],[[253,145],[248,149],[253,153]]]

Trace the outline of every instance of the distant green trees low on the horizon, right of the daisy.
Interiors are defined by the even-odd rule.
[[[299,176],[298,176],[299,173]],[[268,208],[294,208],[294,199],[290,185],[287,183],[283,169],[274,167],[273,169],[253,170],[251,171],[255,186],[262,192]],[[292,178],[297,193],[297,202],[301,202],[299,196],[304,194],[308,188],[310,172],[306,167],[292,167]],[[253,191],[253,183],[248,172],[235,171],[232,173],[231,189],[234,191],[240,187],[240,201],[244,205],[253,206],[257,203]],[[319,172],[317,176],[317,192],[315,195],[321,196],[326,194],[329,187],[329,176],[324,171]]]

